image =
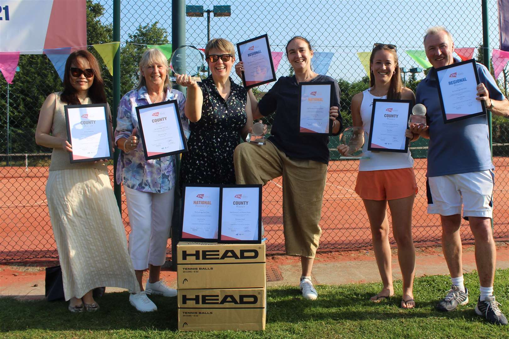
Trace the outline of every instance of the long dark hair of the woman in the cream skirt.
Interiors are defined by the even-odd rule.
[[[78,97],[76,96],[76,89],[74,89],[74,87],[71,85],[70,80],[71,64],[78,58],[78,56],[87,59],[89,61],[90,68],[94,72],[94,81],[92,82],[92,86],[89,88],[89,98],[94,104],[106,103],[104,80],[101,77],[101,69],[99,68],[99,63],[92,53],[83,49],[72,52],[67,58],[64,72],[64,91],[62,92],[61,101],[69,105],[80,104]]]

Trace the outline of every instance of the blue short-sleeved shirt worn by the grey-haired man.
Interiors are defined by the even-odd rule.
[[[458,60],[455,59],[455,62]],[[504,100],[495,80],[482,64],[476,64],[479,81],[490,98]],[[437,72],[430,69],[416,89],[416,103],[427,108],[430,144],[428,177],[493,169],[487,115],[479,115],[444,124],[438,98]],[[489,105],[489,103],[488,103]]]

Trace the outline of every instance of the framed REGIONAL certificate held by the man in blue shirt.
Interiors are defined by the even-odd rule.
[[[486,114],[484,102],[475,99],[479,84],[475,60],[448,65],[436,71],[444,124]]]

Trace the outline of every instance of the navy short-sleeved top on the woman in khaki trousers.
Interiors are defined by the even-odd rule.
[[[318,75],[309,82],[321,81],[334,82],[332,106],[339,107],[340,87],[337,82],[326,75]],[[295,76],[280,77],[258,103],[260,113],[264,116],[276,112],[269,140],[278,149],[285,152],[289,158],[314,160],[328,164],[329,137],[325,134],[299,133],[299,103],[299,84]],[[342,124],[341,115],[338,117],[338,121]]]

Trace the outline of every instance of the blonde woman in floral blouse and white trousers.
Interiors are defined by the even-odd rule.
[[[168,62],[157,49],[149,49],[139,61],[139,82],[120,101],[115,141],[121,155],[117,182],[124,184],[131,233],[129,254],[142,292],[133,293],[129,301],[138,311],[156,311],[147,294],[176,296],[177,291],[160,281],[161,265],[166,259],[166,243],[173,213],[175,190],[175,157],[145,160],[139,140],[136,107],[167,100],[177,100],[181,117],[186,99],[172,89]],[[189,126],[183,118],[184,129]],[[149,280],[142,286],[143,272],[149,268]]]

